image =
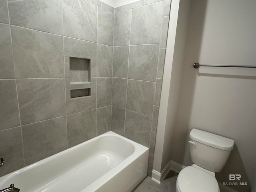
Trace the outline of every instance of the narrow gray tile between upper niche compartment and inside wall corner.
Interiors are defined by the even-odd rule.
[[[113,47],[98,44],[97,72],[98,77],[112,77]]]

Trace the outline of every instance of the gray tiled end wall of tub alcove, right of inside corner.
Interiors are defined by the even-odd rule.
[[[152,174],[171,0],[115,8],[112,127],[148,148]]]

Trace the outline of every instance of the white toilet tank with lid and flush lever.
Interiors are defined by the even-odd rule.
[[[220,172],[234,148],[234,140],[198,129],[192,129],[189,137],[192,162],[212,172]]]

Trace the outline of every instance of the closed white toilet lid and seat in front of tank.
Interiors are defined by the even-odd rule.
[[[178,192],[219,192],[216,178],[198,168],[188,166],[178,175]]]

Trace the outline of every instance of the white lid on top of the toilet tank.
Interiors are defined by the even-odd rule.
[[[231,151],[234,148],[234,140],[198,129],[192,129],[189,137],[194,141],[225,151]]]

